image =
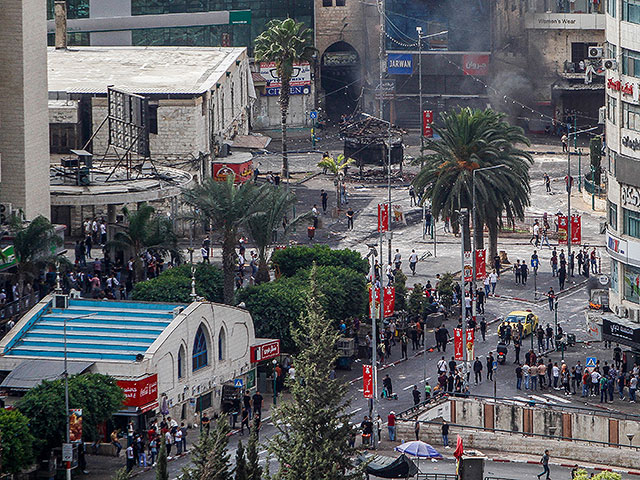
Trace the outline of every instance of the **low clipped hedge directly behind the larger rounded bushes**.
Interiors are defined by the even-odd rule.
[[[366,275],[369,262],[358,252],[349,249],[332,250],[327,245],[295,246],[276,250],[271,261],[285,277],[292,277],[300,270],[310,268],[313,262],[318,267],[343,267]]]

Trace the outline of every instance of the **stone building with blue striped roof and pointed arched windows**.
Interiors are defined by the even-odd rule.
[[[223,409],[223,394],[236,393],[234,383],[255,388],[255,360],[262,357],[252,357],[260,341],[246,310],[209,302],[81,299],[65,306],[57,299],[43,299],[0,341],[6,377],[0,388],[9,403],[12,391],[28,387],[18,381],[25,362],[51,361],[55,371],[64,355],[65,322],[74,371],[115,377],[127,396],[120,414],[140,426],[159,412],[191,423],[199,411]]]

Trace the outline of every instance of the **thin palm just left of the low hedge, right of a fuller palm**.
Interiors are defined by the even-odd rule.
[[[273,232],[278,230],[282,219],[296,203],[296,196],[292,192],[281,188],[267,187],[267,193],[262,201],[263,210],[257,212],[249,218],[247,229],[251,239],[258,249],[258,274],[256,283],[268,282],[270,280],[269,266],[267,262],[267,248],[273,243]],[[308,219],[311,212],[298,216],[293,221],[288,222],[284,228],[283,235],[286,236],[292,228]]]

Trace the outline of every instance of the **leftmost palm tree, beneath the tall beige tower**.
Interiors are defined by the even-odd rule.
[[[62,238],[45,217],[37,216],[25,224],[21,216],[13,215],[10,230],[14,235],[18,289],[22,295],[25,283],[37,277],[42,268],[64,263],[66,259],[56,255],[57,247],[62,245]]]

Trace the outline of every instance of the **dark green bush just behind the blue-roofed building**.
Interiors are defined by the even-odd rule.
[[[210,302],[223,301],[223,277],[219,268],[198,264],[196,267],[196,293]],[[191,265],[165,270],[156,278],[138,282],[131,293],[133,300],[147,302],[191,302]]]

